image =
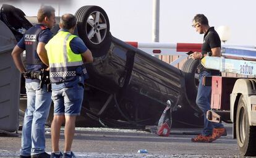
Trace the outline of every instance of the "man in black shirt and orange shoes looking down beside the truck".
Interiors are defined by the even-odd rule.
[[[194,60],[200,60],[204,56],[211,54],[211,56],[221,56],[221,41],[218,33],[214,30],[214,27],[210,27],[208,19],[203,14],[195,15],[193,19],[192,27],[203,36],[202,52],[194,52],[190,54],[190,57]],[[221,123],[214,123],[207,120],[206,113],[210,110],[211,106],[211,86],[203,86],[202,81],[205,76],[220,75],[220,71],[206,69],[203,65],[198,65],[200,70],[199,85],[197,91],[197,106],[202,110],[204,117],[204,126],[202,134],[192,138],[192,142],[211,142],[220,136],[226,134],[226,129]]]

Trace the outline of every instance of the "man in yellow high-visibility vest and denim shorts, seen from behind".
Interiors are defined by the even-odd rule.
[[[63,156],[75,157],[71,145],[74,138],[75,118],[80,115],[82,106],[83,80],[87,74],[83,64],[93,62],[93,57],[82,39],[72,35],[76,27],[74,15],[62,15],[59,27],[61,29],[58,33],[46,44],[54,102],[51,157],[62,156],[62,152],[59,151],[59,135],[63,122],[65,122]]]

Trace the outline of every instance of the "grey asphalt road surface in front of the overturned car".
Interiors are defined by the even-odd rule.
[[[240,157],[231,125],[226,125],[228,136],[213,143],[192,143],[197,128],[174,128],[171,135],[161,137],[138,130],[111,128],[76,128],[72,150],[77,157]],[[61,130],[60,148],[64,148]],[[20,131],[19,131],[20,133]],[[186,135],[184,135],[186,134]],[[18,157],[19,137],[0,137],[0,157]],[[148,153],[137,153],[147,149]],[[51,152],[51,133],[46,128],[46,152]]]

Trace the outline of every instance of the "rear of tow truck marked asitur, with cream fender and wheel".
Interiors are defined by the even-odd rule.
[[[204,85],[211,86],[208,120],[233,123],[241,156],[256,156],[256,49],[226,47],[221,52],[221,57],[205,56],[202,65],[237,75],[204,78]]]

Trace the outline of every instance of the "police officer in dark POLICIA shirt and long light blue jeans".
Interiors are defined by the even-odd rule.
[[[51,105],[51,93],[46,85],[40,88],[40,80],[32,77],[31,72],[40,73],[46,66],[41,59],[47,58],[45,44],[52,38],[50,29],[55,23],[55,10],[42,6],[38,10],[38,24],[25,32],[12,51],[17,69],[22,72],[27,91],[27,109],[22,128],[22,148],[20,157],[50,157],[45,152],[45,122]],[[26,50],[25,66],[20,54]],[[47,63],[46,63],[47,64]]]

